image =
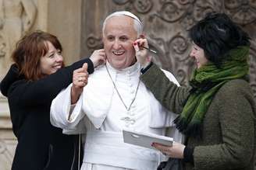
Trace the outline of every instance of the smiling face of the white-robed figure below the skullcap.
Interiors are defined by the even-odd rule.
[[[103,43],[108,63],[113,68],[127,68],[136,62],[133,42],[137,31],[129,16],[113,16],[108,19],[103,30]]]

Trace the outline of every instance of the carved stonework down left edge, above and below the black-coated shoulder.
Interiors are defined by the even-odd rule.
[[[36,16],[34,0],[0,0],[0,81],[11,64],[15,43],[34,25]],[[11,169],[16,144],[7,99],[0,92],[0,169]]]

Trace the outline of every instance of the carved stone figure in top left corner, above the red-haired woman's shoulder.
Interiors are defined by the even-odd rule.
[[[10,54],[15,43],[33,26],[36,15],[34,0],[0,0],[1,73],[9,68]]]

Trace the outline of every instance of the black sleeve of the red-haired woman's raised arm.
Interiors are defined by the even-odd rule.
[[[66,88],[73,79],[73,71],[81,68],[87,62],[88,73],[94,71],[94,65],[90,59],[77,61],[66,68],[61,68],[52,75],[41,78],[37,81],[20,80],[12,84],[8,91],[8,98],[15,99],[17,103],[23,106],[35,106],[51,102],[56,95]]]

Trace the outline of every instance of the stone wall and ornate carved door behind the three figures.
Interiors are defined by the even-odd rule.
[[[103,20],[119,10],[140,18],[150,47],[158,52],[153,60],[171,71],[181,85],[187,85],[194,68],[187,30],[208,12],[225,12],[251,36],[248,62],[256,99],[255,0],[0,0],[0,81],[12,64],[16,41],[24,34],[41,29],[58,36],[68,65],[103,47]],[[15,148],[7,99],[0,93],[1,170],[11,169]]]

